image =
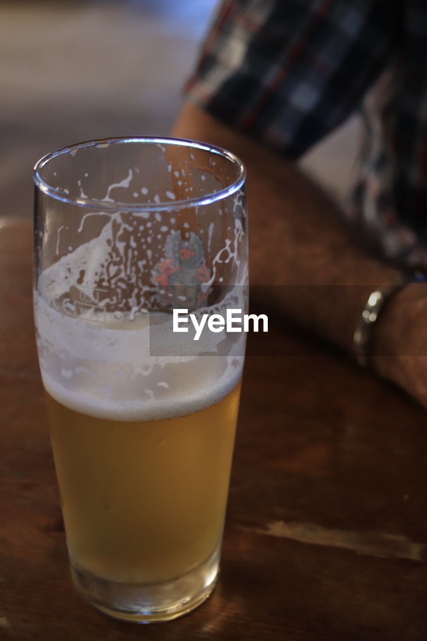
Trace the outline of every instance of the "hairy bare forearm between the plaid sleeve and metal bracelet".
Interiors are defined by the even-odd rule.
[[[265,147],[191,104],[181,112],[173,133],[226,147],[242,158],[247,167],[251,284],[275,286],[269,296],[281,312],[353,351],[353,331],[367,297],[397,272],[365,253],[337,206]]]

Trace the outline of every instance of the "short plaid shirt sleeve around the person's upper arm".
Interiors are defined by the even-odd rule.
[[[355,111],[394,55],[398,0],[225,0],[190,101],[296,159]]]

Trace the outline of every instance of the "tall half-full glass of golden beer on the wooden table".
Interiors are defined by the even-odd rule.
[[[215,586],[245,335],[206,324],[196,338],[185,313],[247,311],[245,178],[228,151],[173,138],[85,142],[34,170],[37,347],[71,575],[118,619],[174,619]]]

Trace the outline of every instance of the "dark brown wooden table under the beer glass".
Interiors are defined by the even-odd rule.
[[[212,597],[144,628],[83,603],[46,428],[28,225],[1,225],[0,262],[1,640],[426,640],[427,414],[272,322],[250,341]]]

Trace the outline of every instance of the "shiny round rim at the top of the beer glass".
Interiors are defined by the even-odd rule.
[[[199,196],[197,198],[188,198],[186,200],[176,200],[176,201],[160,201],[160,203],[121,203],[121,202],[110,202],[105,200],[96,200],[91,198],[71,198],[67,194],[58,189],[49,185],[42,176],[40,176],[40,170],[51,160],[62,156],[64,154],[76,153],[79,149],[85,149],[86,147],[99,147],[102,149],[103,146],[108,146],[110,144],[117,143],[128,143],[128,142],[150,142],[154,144],[174,144],[181,147],[193,147],[194,149],[202,149],[203,151],[208,151],[210,153],[217,154],[229,160],[235,167],[238,169],[237,178],[229,185],[220,189],[217,192],[210,194],[205,194],[204,196]],[[207,170],[206,170],[207,171]],[[62,147],[62,149],[57,149],[51,153],[42,156],[40,160],[37,161],[33,168],[33,181],[35,186],[40,189],[40,191],[51,196],[56,200],[62,201],[62,203],[74,204],[78,207],[85,207],[90,209],[100,209],[100,210],[113,210],[113,211],[126,211],[126,212],[159,212],[159,211],[174,211],[179,209],[184,209],[187,207],[197,207],[201,205],[215,203],[216,201],[221,201],[222,199],[235,194],[240,187],[242,187],[246,179],[246,167],[244,163],[240,160],[238,156],[227,151],[222,147],[217,147],[210,145],[205,142],[199,142],[198,140],[190,140],[187,138],[171,138],[171,137],[157,137],[157,136],[141,136],[141,137],[124,137],[124,138],[99,138],[97,140],[88,140],[87,142],[78,142],[74,145],[67,147]]]

